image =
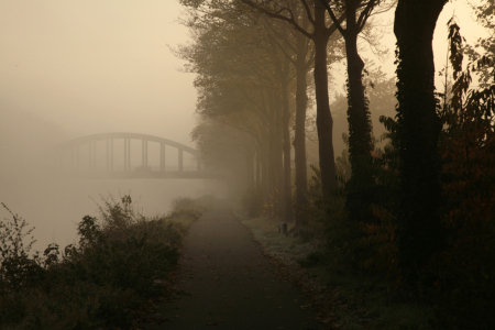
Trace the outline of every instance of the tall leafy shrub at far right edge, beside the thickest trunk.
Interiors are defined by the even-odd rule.
[[[481,57],[463,69],[460,26],[454,18],[448,26],[453,84],[441,111],[442,220],[448,244],[440,254],[440,272],[447,274],[444,292],[463,293],[457,298],[449,295],[455,326],[487,329],[495,318],[495,77],[481,75],[479,85],[476,76],[490,73],[495,61]]]

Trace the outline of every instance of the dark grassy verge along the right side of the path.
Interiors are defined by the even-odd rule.
[[[287,268],[298,266],[288,276],[302,282],[320,309],[320,320],[328,322],[330,329],[442,329],[435,306],[398,301],[393,284],[352,268],[345,252],[332,249],[332,241],[345,237],[339,224],[331,229],[330,238],[328,229],[323,231],[318,223],[297,234],[289,224],[289,233],[284,235],[278,233],[279,220],[237,213],[271,256],[290,266]],[[340,242],[338,245],[342,246]]]

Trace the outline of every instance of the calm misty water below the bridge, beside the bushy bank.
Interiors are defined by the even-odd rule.
[[[53,242],[61,246],[75,243],[77,223],[86,215],[98,216],[102,197],[112,195],[119,200],[125,194],[143,215],[156,216],[168,212],[174,198],[199,197],[212,190],[199,179],[70,180],[31,174],[3,177],[0,183],[0,201],[36,228],[34,250],[38,251]],[[0,217],[11,219],[4,209]]]

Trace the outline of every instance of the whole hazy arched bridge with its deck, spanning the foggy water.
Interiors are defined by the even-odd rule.
[[[141,147],[135,145],[141,142]],[[134,143],[132,143],[134,142]],[[133,147],[131,148],[131,145]],[[155,146],[150,162],[150,145]],[[166,165],[165,146],[177,150],[177,165]],[[167,151],[168,151],[167,147]],[[136,154],[141,162],[136,165]],[[196,166],[184,165],[190,154]],[[52,148],[57,173],[76,178],[224,178],[219,172],[201,168],[200,153],[182,143],[139,133],[102,133],[77,138]]]

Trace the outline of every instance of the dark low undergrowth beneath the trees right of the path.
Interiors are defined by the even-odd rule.
[[[381,174],[378,179],[388,187],[394,187],[396,180],[394,152],[392,146],[386,147],[381,160],[387,162],[388,173]],[[472,237],[466,237],[447,222],[448,217],[459,212],[447,212],[446,231],[451,241],[436,255],[429,271],[438,279],[432,287],[421,288],[421,297],[408,298],[400,290],[400,273],[396,267],[396,218],[391,193],[382,196],[380,205],[372,206],[380,222],[366,226],[349,220],[343,194],[322,199],[318,182],[315,170],[306,210],[309,221],[301,230],[290,230],[294,224],[289,223],[288,235],[279,234],[279,220],[268,217],[248,219],[245,215],[243,223],[272,255],[285,262],[296,261],[310,276],[316,275],[320,283],[338,293],[338,300],[344,301],[344,308],[339,309],[343,329],[490,329],[494,316],[490,298],[494,272],[490,257],[494,250],[483,239],[493,239],[491,230],[471,226],[468,222],[471,218],[465,216],[463,224],[472,232]],[[471,248],[461,250],[460,246],[466,245]],[[488,249],[479,251],[480,246]],[[484,272],[476,274],[472,265]]]

